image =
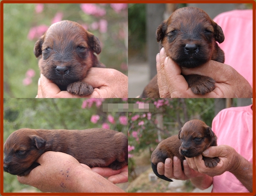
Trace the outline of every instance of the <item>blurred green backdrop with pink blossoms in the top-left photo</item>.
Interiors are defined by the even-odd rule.
[[[35,42],[61,20],[78,22],[101,42],[100,62],[128,74],[127,4],[4,4],[4,97],[35,98]]]

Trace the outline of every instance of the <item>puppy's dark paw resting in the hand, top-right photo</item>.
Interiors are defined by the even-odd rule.
[[[186,76],[184,75],[184,78],[186,79],[189,88],[191,88],[191,91],[195,94],[204,95],[206,93],[210,93],[215,87],[215,80],[208,76],[191,74]]]

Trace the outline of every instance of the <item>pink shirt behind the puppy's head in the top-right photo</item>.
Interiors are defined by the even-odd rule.
[[[219,45],[225,53],[224,63],[236,69],[252,86],[252,9],[224,12],[213,20],[225,36]]]

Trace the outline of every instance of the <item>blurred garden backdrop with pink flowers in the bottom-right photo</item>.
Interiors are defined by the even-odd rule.
[[[178,134],[185,122],[192,119],[204,121],[211,127],[213,118],[224,108],[237,107],[238,101],[252,103],[251,99],[129,98],[129,103],[153,103],[154,112],[128,112],[128,168],[127,192],[211,192],[212,186],[204,191],[196,189],[190,180],[168,182],[154,174],[151,154],[158,143]],[[246,104],[245,104],[246,105]]]

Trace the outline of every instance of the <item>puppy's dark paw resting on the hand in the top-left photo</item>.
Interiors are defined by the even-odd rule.
[[[87,96],[93,93],[93,87],[85,82],[74,82],[67,86],[67,91],[72,94]]]

